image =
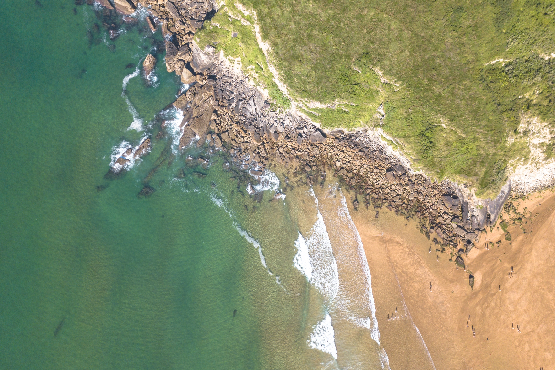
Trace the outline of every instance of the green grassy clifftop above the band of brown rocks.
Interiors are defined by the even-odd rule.
[[[546,57],[555,52],[555,5],[547,0],[243,3],[294,99],[352,104],[306,107],[314,120],[376,126],[383,101],[382,128],[417,168],[468,181],[478,194],[492,195],[509,161],[527,157],[522,115],[553,123],[555,59]],[[215,44],[209,31],[203,41]]]

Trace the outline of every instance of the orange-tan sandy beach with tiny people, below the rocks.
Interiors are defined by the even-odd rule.
[[[531,194],[514,206],[525,216],[508,226],[512,240],[497,222],[462,254],[465,269],[449,261],[449,249],[436,251],[436,235],[428,240],[415,221],[385,209],[377,218],[372,208],[351,211],[391,369],[539,369],[552,363],[555,194]]]

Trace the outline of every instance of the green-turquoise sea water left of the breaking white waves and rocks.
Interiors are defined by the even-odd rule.
[[[154,118],[181,85],[163,54],[154,85],[129,79],[135,117],[122,97],[161,40],[143,22],[112,42],[93,6],[1,4],[0,368],[337,367],[348,338],[336,331],[337,360],[311,348],[334,308],[294,265],[314,196],[257,200],[220,154],[207,169],[171,155]],[[152,152],[105,179],[114,148],[145,134]],[[145,183],[157,191],[138,197]]]

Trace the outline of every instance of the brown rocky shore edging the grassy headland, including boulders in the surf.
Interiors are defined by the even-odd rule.
[[[511,194],[509,183],[495,199],[477,199],[452,181],[439,183],[411,170],[410,162],[371,130],[325,130],[294,108],[274,108],[267,93],[223,54],[210,47],[201,50],[194,43],[196,29],[216,11],[213,2],[97,2],[127,15],[137,7],[148,8],[149,28],[153,32],[162,28],[166,68],[190,85],[166,107],[183,112],[179,149],[208,142],[211,150],[224,151],[238,168],[255,178],[273,165],[282,166],[286,171],[282,191],[300,185],[319,186],[326,176],[335,176],[356,195],[354,209],[372,207],[378,217],[385,207],[420,220],[421,232],[432,238],[438,251],[454,252],[452,260],[462,268],[461,255],[468,254],[495,226]],[[153,63],[149,54],[143,63],[144,75],[152,72]],[[149,145],[150,139],[140,143],[133,155],[147,153]],[[123,167],[132,155],[132,149],[128,151],[110,171],[117,173]]]

